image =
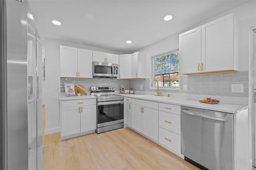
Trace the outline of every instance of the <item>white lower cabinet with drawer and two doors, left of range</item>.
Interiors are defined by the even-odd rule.
[[[61,101],[61,139],[95,132],[96,99]]]

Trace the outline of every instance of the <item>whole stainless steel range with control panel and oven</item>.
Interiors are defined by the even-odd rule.
[[[97,96],[96,132],[123,128],[124,97],[115,95],[115,87],[91,87],[91,95]]]

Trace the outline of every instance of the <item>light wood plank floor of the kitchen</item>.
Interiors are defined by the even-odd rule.
[[[43,132],[43,169],[198,170],[130,128],[66,140],[60,140],[60,133],[44,135]]]

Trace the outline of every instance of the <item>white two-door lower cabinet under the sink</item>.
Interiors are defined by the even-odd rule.
[[[131,127],[158,142],[158,103],[132,99]]]

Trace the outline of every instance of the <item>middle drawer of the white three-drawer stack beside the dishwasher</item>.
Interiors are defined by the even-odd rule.
[[[159,127],[180,134],[180,115],[159,111]]]

